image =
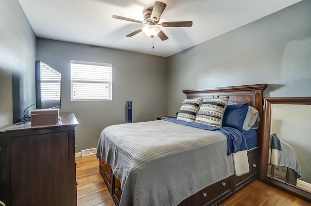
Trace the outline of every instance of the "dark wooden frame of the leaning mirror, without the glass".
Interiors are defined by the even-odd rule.
[[[271,125],[271,107],[273,104],[292,104],[292,105],[310,105],[311,97],[274,97],[264,98],[264,119],[263,119],[263,135],[260,154],[260,174],[259,179],[269,185],[280,190],[294,194],[304,200],[311,202],[311,191],[303,190],[285,182],[278,181],[268,174],[268,156],[269,156],[269,140]]]

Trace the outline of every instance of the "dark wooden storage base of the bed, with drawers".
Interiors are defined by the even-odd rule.
[[[260,147],[256,147],[247,152],[249,173],[243,174],[242,176],[232,175],[224,180],[216,182],[185,199],[178,206],[217,206],[224,202],[229,196],[232,196],[258,178],[259,153]],[[113,201],[116,206],[119,206],[122,194],[121,182],[113,174],[113,171],[110,166],[106,164],[104,159],[99,158],[99,161],[100,173],[110,191]]]

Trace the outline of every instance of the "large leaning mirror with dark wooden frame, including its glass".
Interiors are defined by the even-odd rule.
[[[264,105],[260,179],[311,202],[311,97]]]

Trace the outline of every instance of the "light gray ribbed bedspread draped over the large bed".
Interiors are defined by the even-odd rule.
[[[121,180],[120,206],[176,206],[234,174],[225,134],[167,121],[106,127],[97,157]]]

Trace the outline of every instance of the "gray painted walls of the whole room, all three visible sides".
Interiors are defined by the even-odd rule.
[[[46,39],[37,39],[35,58],[35,34],[17,0],[0,0],[0,19],[0,128],[35,103],[35,60],[42,60],[63,75],[61,111],[80,122],[77,151],[95,147],[104,127],[124,122],[126,100],[139,122],[174,115],[184,89],[269,83],[264,96],[311,96],[310,0],[169,58]],[[112,63],[113,100],[70,102],[70,60]]]

